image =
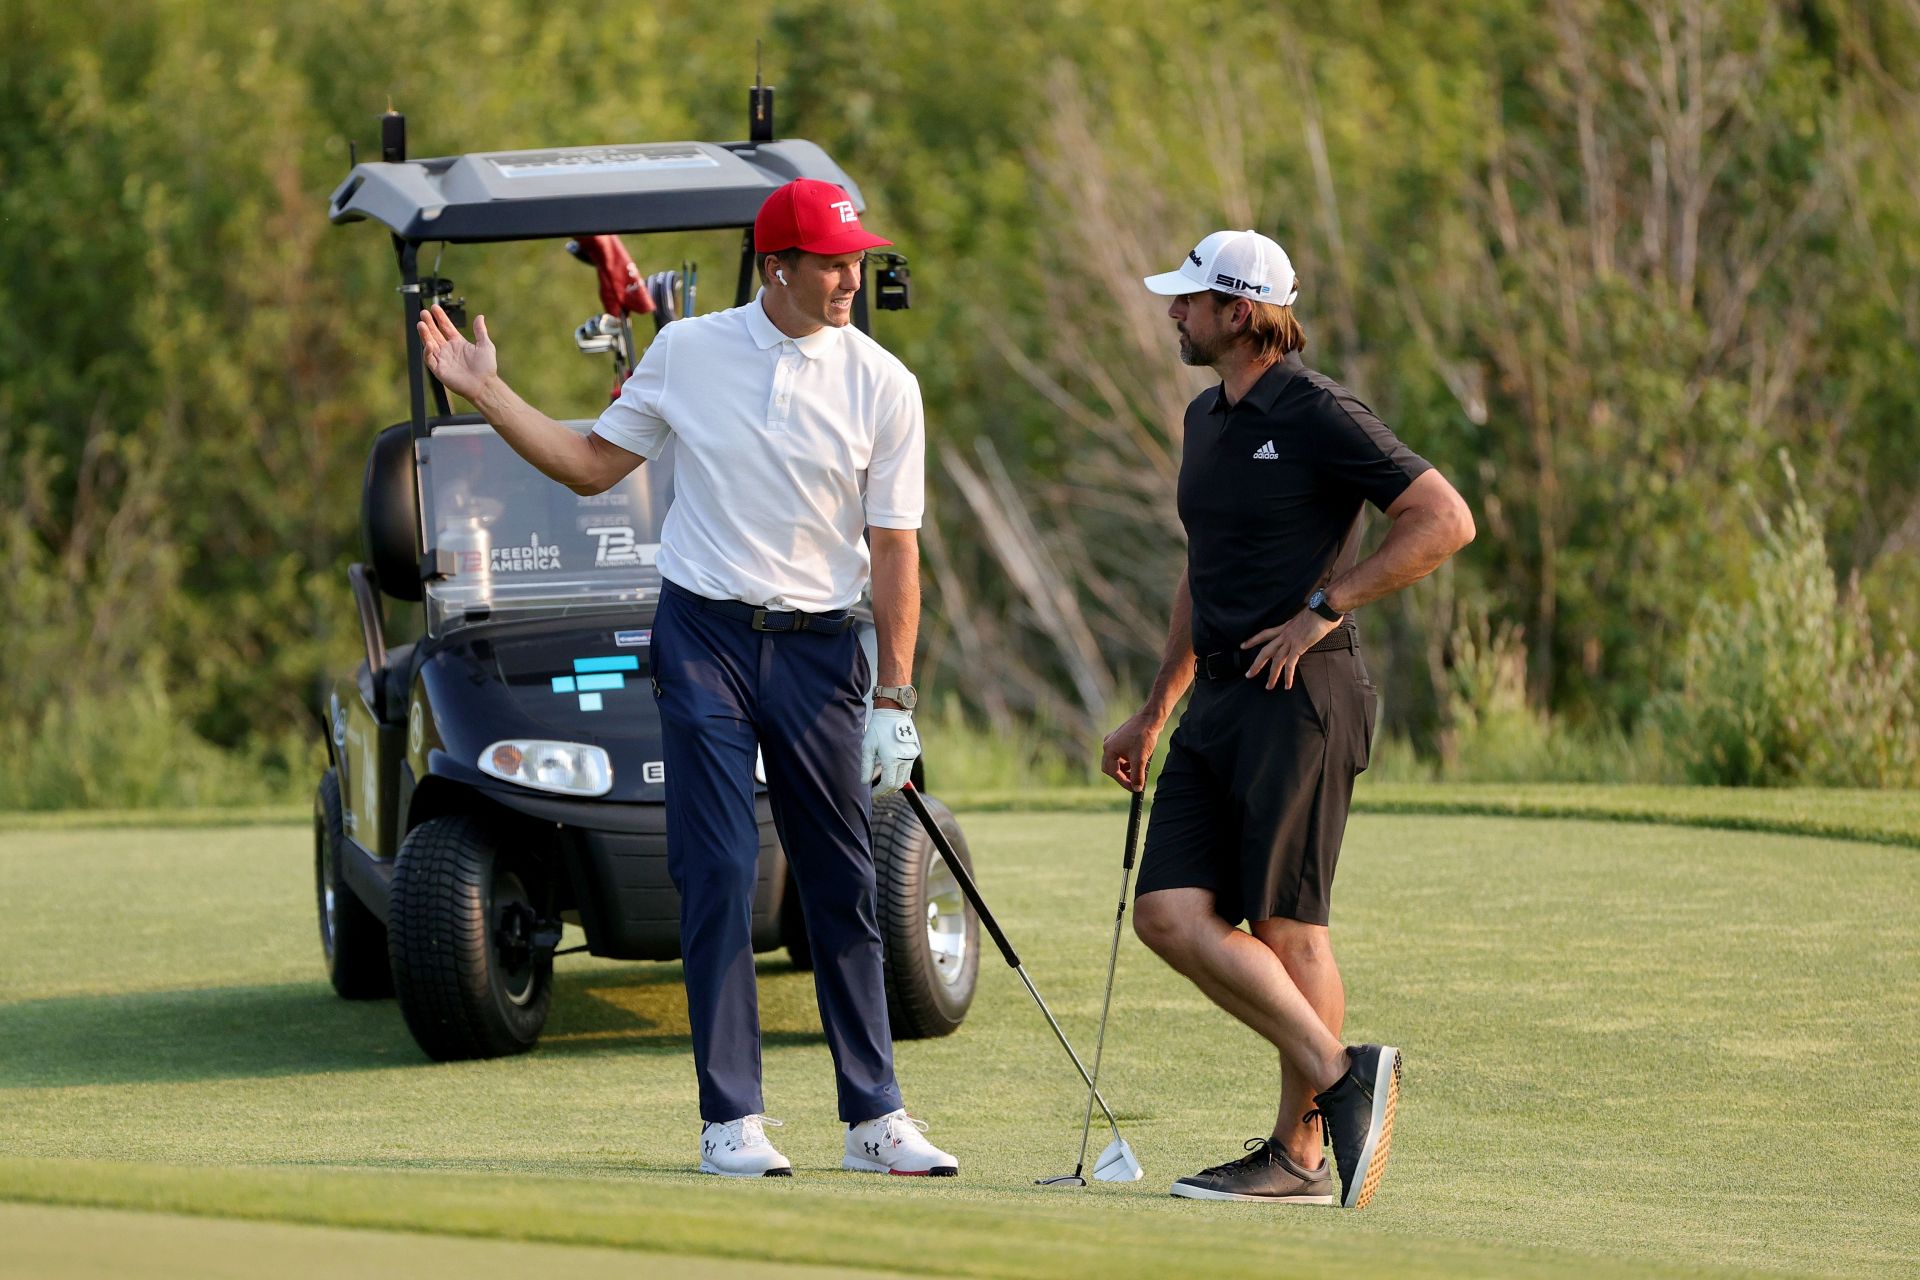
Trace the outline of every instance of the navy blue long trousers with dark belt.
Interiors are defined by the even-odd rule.
[[[766,1109],[753,889],[753,752],[814,952],[814,994],[849,1125],[900,1107],[874,906],[874,793],[860,777],[860,637],[755,631],[668,585],[653,622],[666,754],[666,867],[680,890],[701,1119]]]

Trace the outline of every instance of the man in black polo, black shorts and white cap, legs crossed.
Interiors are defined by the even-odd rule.
[[[1386,1171],[1400,1050],[1342,1046],[1346,992],[1327,940],[1377,710],[1348,614],[1438,568],[1473,539],[1473,516],[1352,391],[1300,363],[1294,269],[1279,244],[1221,230],[1146,288],[1173,297],[1181,359],[1221,386],[1187,407],[1187,570],[1160,674],[1108,735],[1100,770],[1140,791],[1194,685],[1154,789],[1135,931],[1281,1052],[1273,1134],[1173,1194],[1332,1203],[1325,1140],[1340,1203],[1361,1209]],[[1361,503],[1392,526],[1356,562]]]

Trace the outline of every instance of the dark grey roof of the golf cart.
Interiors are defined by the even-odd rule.
[[[478,244],[603,232],[751,226],[793,178],[854,186],[826,152],[780,142],[632,142],[540,152],[470,152],[355,165],[328,201],[334,223],[374,219],[401,240]]]

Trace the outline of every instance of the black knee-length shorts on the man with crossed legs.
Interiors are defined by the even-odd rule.
[[[1196,679],[1154,785],[1137,894],[1208,889],[1227,923],[1325,925],[1379,695],[1357,649],[1309,651],[1294,687]]]

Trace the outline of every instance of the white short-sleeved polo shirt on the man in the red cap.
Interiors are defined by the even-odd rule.
[[[866,526],[925,507],[914,374],[852,326],[787,338],[758,297],[662,328],[593,430],[647,459],[678,441],[659,568],[714,601],[847,608]]]

